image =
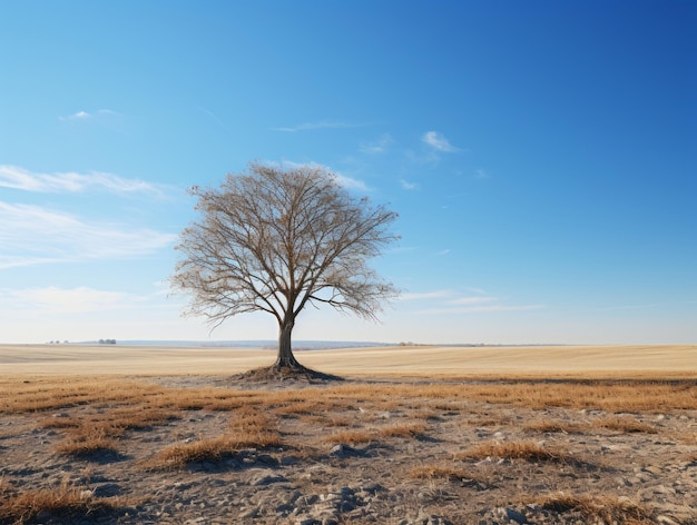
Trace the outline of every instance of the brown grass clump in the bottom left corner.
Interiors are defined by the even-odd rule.
[[[20,493],[8,482],[0,482],[0,523],[21,525],[42,515],[84,518],[126,504],[122,498],[92,497],[90,491],[67,483]]]

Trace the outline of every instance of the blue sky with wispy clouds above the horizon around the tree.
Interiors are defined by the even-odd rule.
[[[695,2],[6,0],[0,27],[0,341],[275,338],[166,283],[186,188],[261,160],[400,214],[382,323],[297,339],[697,343]]]

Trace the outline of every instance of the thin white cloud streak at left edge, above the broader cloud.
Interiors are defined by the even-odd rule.
[[[42,194],[79,194],[91,189],[114,194],[148,194],[150,196],[160,196],[164,192],[159,186],[101,171],[35,174],[18,166],[9,165],[0,165],[0,187]]]

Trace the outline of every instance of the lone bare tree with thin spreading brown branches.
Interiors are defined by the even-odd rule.
[[[204,316],[214,328],[237,314],[273,315],[276,372],[306,370],[292,349],[305,306],[376,320],[383,301],[396,296],[366,265],[397,239],[390,232],[396,214],[354,198],[325,168],[251,164],[219,189],[190,194],[202,218],[181,232],[171,277],[175,290],[192,296],[185,315]]]

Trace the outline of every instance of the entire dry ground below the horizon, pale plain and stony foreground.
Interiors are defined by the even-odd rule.
[[[697,346],[0,346],[0,524],[695,524]]]

